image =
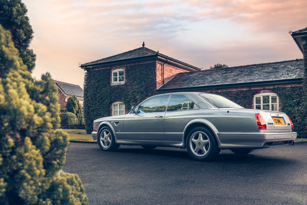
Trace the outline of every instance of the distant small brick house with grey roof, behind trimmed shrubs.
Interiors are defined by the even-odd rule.
[[[67,100],[72,95],[76,96],[80,102],[81,107],[83,108],[84,92],[80,86],[57,80],[54,80],[54,83],[58,88],[59,103],[61,109],[66,109]]]

